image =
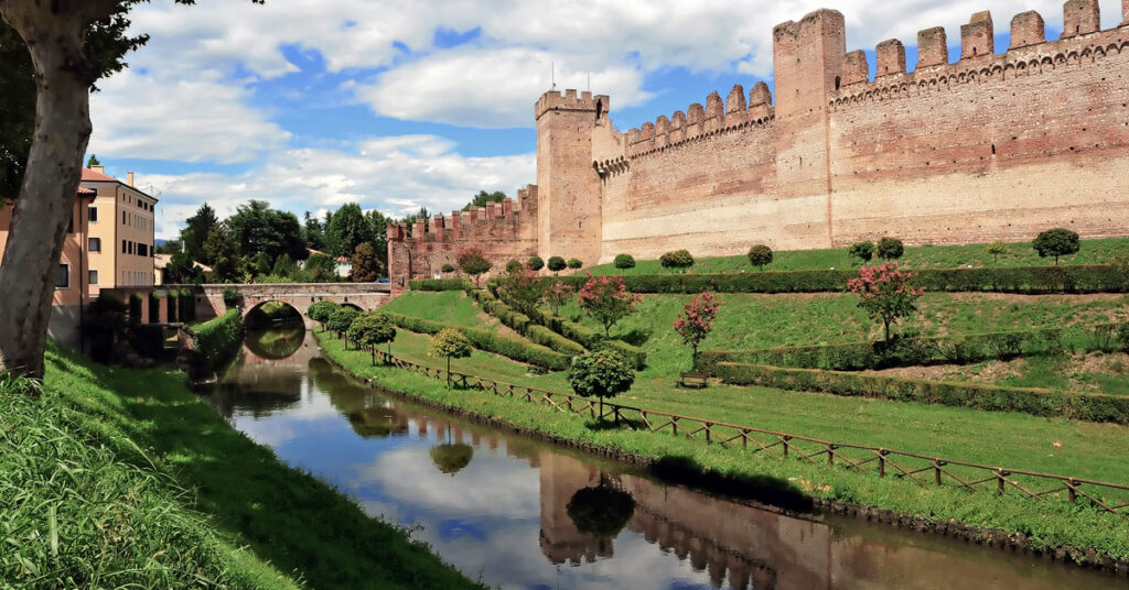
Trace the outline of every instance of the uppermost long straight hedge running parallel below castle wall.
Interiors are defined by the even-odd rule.
[[[926,268],[918,283],[926,291],[1001,293],[1124,293],[1129,272],[1108,264],[1014,266],[990,268]],[[844,291],[858,270],[754,272],[721,274],[631,274],[623,282],[636,293],[811,293]],[[586,276],[561,276],[579,289]]]

